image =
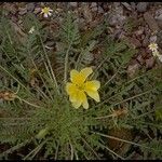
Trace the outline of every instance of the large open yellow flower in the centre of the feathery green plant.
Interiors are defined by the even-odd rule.
[[[75,69],[70,71],[71,82],[67,82],[66,92],[75,108],[79,108],[81,105],[85,109],[89,108],[86,94],[96,102],[100,102],[99,94],[97,92],[100,87],[100,82],[97,80],[86,80],[92,72],[93,70],[90,67],[82,69],[80,72]]]

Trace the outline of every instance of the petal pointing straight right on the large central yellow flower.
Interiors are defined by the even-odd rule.
[[[97,80],[86,81],[85,91],[97,91],[100,87],[100,82]]]

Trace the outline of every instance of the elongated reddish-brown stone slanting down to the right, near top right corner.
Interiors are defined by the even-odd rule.
[[[151,14],[149,14],[148,12],[146,12],[144,14],[144,18],[145,18],[146,23],[149,25],[149,28],[153,32],[159,30],[159,26],[158,26],[156,19],[153,18],[153,16]]]

